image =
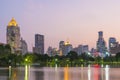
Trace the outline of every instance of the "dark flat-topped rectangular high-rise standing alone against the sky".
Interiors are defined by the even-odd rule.
[[[35,47],[34,53],[44,54],[44,35],[35,34]]]

